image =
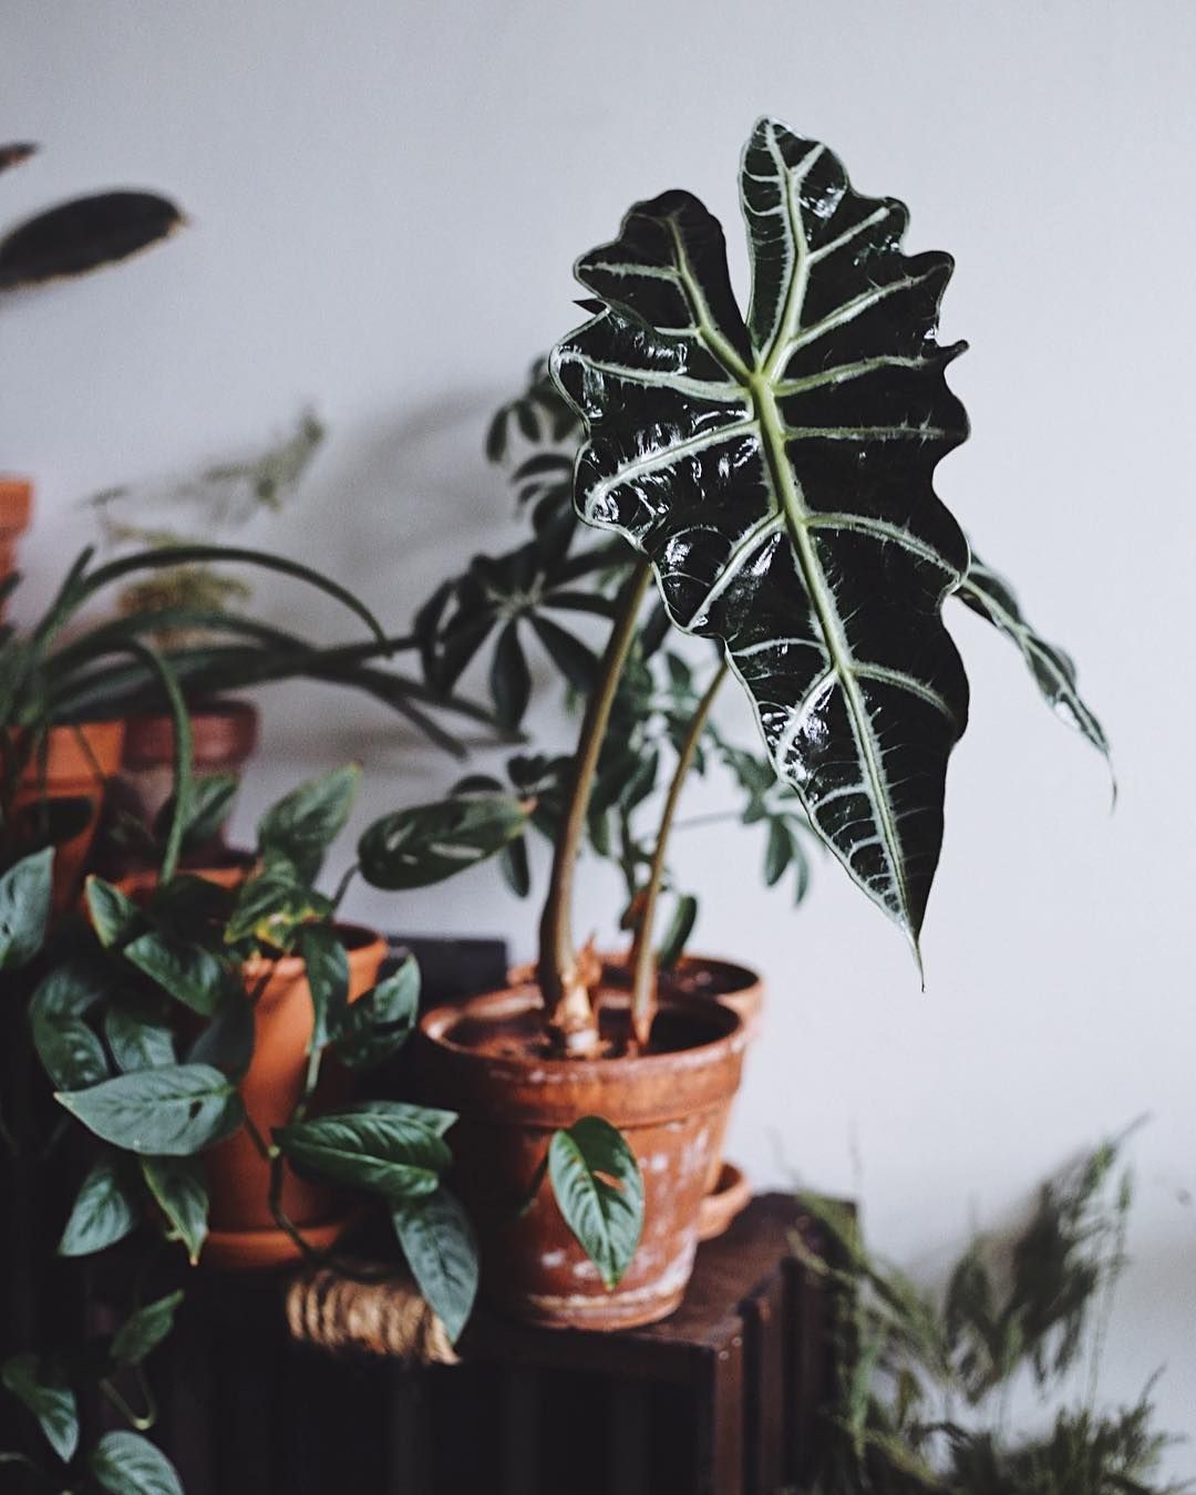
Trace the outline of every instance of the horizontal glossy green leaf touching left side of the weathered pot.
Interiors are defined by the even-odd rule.
[[[274,1136],[300,1169],[387,1199],[431,1195],[451,1162],[431,1127],[399,1114],[323,1115],[296,1121]]]

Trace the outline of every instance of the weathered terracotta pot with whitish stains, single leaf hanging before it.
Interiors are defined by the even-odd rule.
[[[483,1289],[499,1310],[549,1328],[626,1329],[680,1304],[718,1123],[736,1093],[745,1033],[718,1003],[665,1002],[659,1052],[567,1060],[537,1051],[541,999],[511,987],[438,1008],[420,1023],[420,1081],[456,1111],[454,1178],[481,1244]],[[626,1000],[602,993],[604,1032]],[[520,1212],[552,1133],[601,1115],[628,1138],[644,1180],[644,1230],[613,1292],[565,1224],[547,1178]]]

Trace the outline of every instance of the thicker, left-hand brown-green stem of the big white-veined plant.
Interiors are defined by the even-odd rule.
[[[544,994],[547,1027],[567,1052],[592,1054],[598,1046],[598,1015],[589,988],[579,972],[573,943],[573,873],[586,831],[598,755],[610,722],[614,694],[635,638],[635,622],[652,582],[652,564],[640,558],[619,594],[614,628],[607,640],[598,683],[586,703],[582,733],[568,788],[568,809],[552,864],[549,898],[540,919],[540,990]]]

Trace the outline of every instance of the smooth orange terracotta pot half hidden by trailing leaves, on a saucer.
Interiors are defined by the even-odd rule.
[[[372,930],[342,925],[348,954],[348,999],[353,1002],[377,981],[387,954],[386,940]],[[241,1097],[262,1136],[284,1126],[303,1087],[306,1046],[311,1039],[311,991],[298,955],[277,961],[248,961],[245,991],[265,981],[254,1008],[254,1052]],[[312,1111],[333,1108],[348,1099],[348,1075],[324,1064]],[[278,1266],[300,1253],[280,1230],[269,1208],[269,1165],[242,1127],[203,1154],[208,1166],[211,1233],[203,1247],[205,1266]],[[351,1214],[342,1196],[326,1184],[308,1183],[290,1169],[284,1174],[283,1209],[303,1227],[312,1245],[330,1245]]]

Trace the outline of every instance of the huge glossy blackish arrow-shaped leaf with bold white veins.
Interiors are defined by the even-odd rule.
[[[671,620],[724,643],[773,765],[915,946],[967,679],[942,622],[967,541],[936,463],[967,435],[934,330],[946,254],[761,120],[743,154],[745,318],[719,223],[670,191],[577,277],[602,309],[553,375],[586,423],[582,519],[650,558]]]

